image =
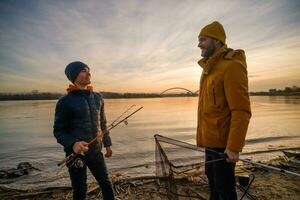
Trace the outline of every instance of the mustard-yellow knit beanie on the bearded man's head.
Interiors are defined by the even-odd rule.
[[[214,39],[220,40],[223,44],[226,44],[226,34],[225,30],[217,21],[214,21],[211,24],[206,25],[204,28],[201,29],[199,36],[208,36]]]

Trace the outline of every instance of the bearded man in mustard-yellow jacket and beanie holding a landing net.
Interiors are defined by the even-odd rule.
[[[246,57],[243,50],[227,48],[219,22],[198,36],[203,68],[198,104],[197,145],[205,147],[205,173],[210,199],[235,200],[235,162],[245,144],[251,117]],[[227,154],[227,159],[213,162]],[[208,162],[212,161],[212,162]]]

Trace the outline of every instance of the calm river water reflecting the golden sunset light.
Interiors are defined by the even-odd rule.
[[[0,179],[0,184],[19,189],[70,185],[67,169],[56,165],[64,157],[52,133],[56,102],[0,102],[0,169],[30,162],[41,170],[20,178]],[[197,102],[197,97],[106,99],[108,123],[131,105],[144,106],[127,126],[121,124],[111,131],[113,157],[106,159],[109,171],[153,175],[154,134],[195,144]],[[244,152],[300,146],[299,96],[252,96],[251,107]],[[90,177],[89,181],[94,180]]]

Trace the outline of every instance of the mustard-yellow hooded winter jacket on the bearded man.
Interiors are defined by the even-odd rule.
[[[221,47],[203,68],[199,89],[197,145],[241,152],[251,117],[243,50]]]

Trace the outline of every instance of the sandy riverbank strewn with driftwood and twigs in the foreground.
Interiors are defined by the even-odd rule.
[[[264,162],[270,166],[279,167],[300,173],[299,161],[288,159],[285,156],[279,156],[275,159]],[[299,177],[286,175],[261,167],[240,164],[237,166],[236,174],[238,176],[250,177],[254,175],[255,179],[250,186],[250,194],[258,200],[266,199],[289,199],[297,200],[300,198]],[[116,199],[120,200],[167,200],[168,190],[165,187],[165,179],[155,176],[145,177],[124,177],[121,174],[111,175],[114,184]],[[251,180],[251,179],[250,179]],[[197,196],[198,199],[208,198],[208,186],[202,168],[193,169],[176,178],[177,191],[186,196]],[[174,182],[172,183],[174,184]],[[242,182],[241,182],[242,184]],[[239,184],[238,184],[239,185]],[[243,192],[238,190],[241,197]],[[96,183],[88,186],[87,200],[99,199],[101,192]],[[15,190],[0,186],[0,199],[72,199],[71,187],[51,187],[40,190]],[[180,197],[180,200],[191,199],[190,197]]]

